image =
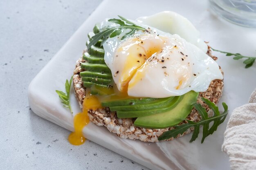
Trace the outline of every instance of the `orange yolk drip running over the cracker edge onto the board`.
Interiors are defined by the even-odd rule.
[[[76,114],[74,117],[74,132],[68,137],[70,144],[81,145],[85,142],[83,128],[90,122],[88,110],[96,110],[97,108],[102,108],[99,99],[91,94],[86,95],[83,100],[83,112]]]

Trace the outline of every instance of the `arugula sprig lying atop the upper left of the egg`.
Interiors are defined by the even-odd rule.
[[[119,15],[118,15],[119,16]],[[124,17],[119,16],[120,19],[110,19],[109,22],[119,24],[119,26],[107,26],[99,30],[99,33],[95,34],[92,37],[92,40],[88,44],[88,49],[91,48],[91,46],[95,45],[101,38],[101,46],[102,44],[108,39],[113,38],[115,36],[120,35],[123,33],[126,29],[130,29],[128,33],[126,33],[121,40],[124,40],[127,37],[130,37],[132,34],[134,34],[138,30],[145,31],[145,28],[141,26],[137,26],[133,22],[130,22],[129,20],[125,19]]]

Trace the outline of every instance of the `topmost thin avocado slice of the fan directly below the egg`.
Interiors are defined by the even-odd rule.
[[[135,99],[121,99],[121,100],[106,100],[101,102],[101,106],[103,107],[111,107],[111,106],[130,106],[135,104],[145,104],[147,102],[151,102],[157,100],[157,98],[135,98]]]

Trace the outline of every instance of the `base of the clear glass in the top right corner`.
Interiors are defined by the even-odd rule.
[[[256,28],[256,0],[209,0],[211,9],[235,24]]]

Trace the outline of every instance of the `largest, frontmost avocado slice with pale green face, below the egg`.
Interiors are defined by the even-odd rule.
[[[196,103],[197,99],[198,93],[195,91],[190,91],[184,95],[183,99],[179,102],[179,104],[177,104],[175,108],[164,113],[138,117],[134,122],[134,126],[154,129],[162,129],[175,126],[186,119],[193,108],[192,105]]]

